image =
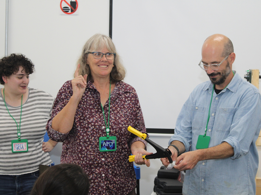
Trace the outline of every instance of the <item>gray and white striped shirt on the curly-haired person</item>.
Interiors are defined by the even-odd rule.
[[[18,140],[17,125],[20,123],[21,106],[7,108],[0,98],[0,174],[21,175],[39,170],[39,165],[52,163],[49,153],[42,151],[45,126],[50,118],[54,97],[39,90],[29,89],[26,102],[22,105],[21,139],[28,140],[28,152],[12,153],[11,140]]]

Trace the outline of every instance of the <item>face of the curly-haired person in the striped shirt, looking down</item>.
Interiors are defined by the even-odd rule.
[[[13,73],[9,77],[3,76],[4,88],[13,94],[25,94],[29,84],[29,74],[26,74],[23,67],[19,67],[19,71]]]

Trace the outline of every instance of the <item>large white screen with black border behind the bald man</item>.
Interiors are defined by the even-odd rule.
[[[261,1],[113,1],[112,40],[139,96],[146,128],[174,129],[192,90],[209,80],[200,69],[205,39],[234,44],[232,69],[261,69]]]

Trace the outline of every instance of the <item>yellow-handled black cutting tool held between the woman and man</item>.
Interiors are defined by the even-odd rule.
[[[170,150],[168,148],[165,149],[165,148],[159,146],[158,144],[156,144],[155,142],[153,142],[149,138],[147,138],[147,134],[146,133],[141,133],[141,132],[139,132],[138,130],[134,129],[131,126],[128,127],[128,131],[130,131],[131,133],[139,136],[141,139],[144,139],[150,145],[152,145],[153,148],[156,149],[156,151],[157,151],[156,153],[150,154],[150,155],[143,155],[142,156],[143,159],[168,158],[170,163],[173,162],[173,160],[171,158],[172,153],[170,152]],[[135,155],[129,156],[129,162],[133,162],[134,161],[134,157],[135,157]]]

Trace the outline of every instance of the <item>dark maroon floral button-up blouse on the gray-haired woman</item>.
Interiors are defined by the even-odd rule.
[[[61,163],[80,165],[90,178],[89,194],[127,194],[136,186],[133,163],[128,161],[130,146],[135,141],[147,142],[127,130],[132,126],[146,133],[139,99],[135,89],[122,81],[117,82],[111,93],[110,136],[116,136],[117,150],[99,151],[99,137],[106,136],[100,94],[91,81],[76,110],[73,128],[63,134],[52,129],[52,119],[67,104],[73,95],[71,81],[59,90],[51,119],[46,129],[52,140],[63,142]],[[108,125],[109,101],[105,103],[104,114]]]

